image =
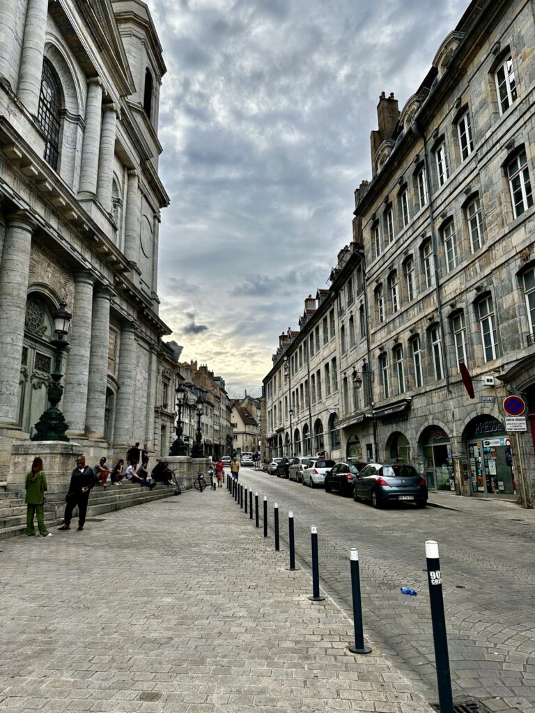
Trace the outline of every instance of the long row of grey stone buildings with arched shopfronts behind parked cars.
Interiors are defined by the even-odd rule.
[[[533,46],[531,3],[472,2],[402,111],[379,98],[353,242],[264,379],[271,455],[407,461],[429,488],[533,503]]]

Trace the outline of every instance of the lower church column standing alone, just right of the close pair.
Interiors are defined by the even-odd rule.
[[[123,324],[119,348],[119,390],[115,407],[115,431],[113,445],[132,445],[133,412],[136,408],[136,327]]]

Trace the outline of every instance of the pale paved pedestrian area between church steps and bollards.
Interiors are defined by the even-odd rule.
[[[6,540],[0,710],[431,713],[261,535],[222,488]]]

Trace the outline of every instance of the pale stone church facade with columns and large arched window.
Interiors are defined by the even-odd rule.
[[[138,0],[0,0],[0,18],[0,480],[46,409],[61,302],[68,436],[95,456],[133,441],[159,454],[176,366],[158,317],[151,15]]]

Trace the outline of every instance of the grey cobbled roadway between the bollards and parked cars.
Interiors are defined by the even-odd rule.
[[[240,481],[267,493],[271,506],[277,501],[284,528],[294,511],[297,554],[307,563],[310,525],[318,526],[322,585],[346,612],[349,550],[359,548],[365,632],[389,647],[429,701],[436,700],[436,673],[424,542],[438,540],[454,697],[535,711],[534,511],[439,495],[458,509],[376,511],[265,473],[243,469]],[[417,597],[399,593],[401,586]]]

